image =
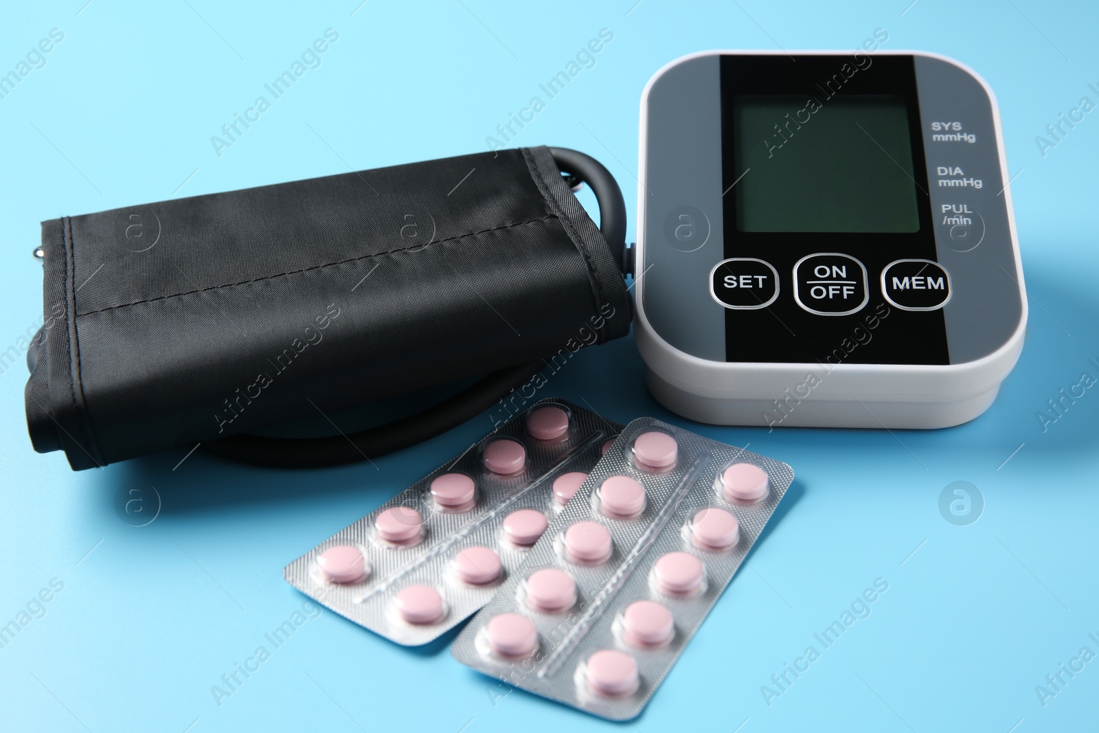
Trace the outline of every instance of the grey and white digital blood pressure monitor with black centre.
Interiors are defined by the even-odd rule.
[[[636,342],[714,424],[944,427],[1026,323],[999,114],[924,53],[707,52],[641,102]]]

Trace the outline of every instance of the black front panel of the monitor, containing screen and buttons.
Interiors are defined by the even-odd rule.
[[[721,108],[726,360],[948,364],[912,57],[722,56]]]

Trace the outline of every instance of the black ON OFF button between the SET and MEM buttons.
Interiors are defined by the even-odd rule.
[[[793,266],[793,299],[817,315],[847,315],[870,299],[866,268],[850,255],[822,252]]]

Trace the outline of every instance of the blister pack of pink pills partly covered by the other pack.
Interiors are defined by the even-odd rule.
[[[564,400],[542,400],[282,576],[398,644],[426,644],[508,581],[621,429]]]

